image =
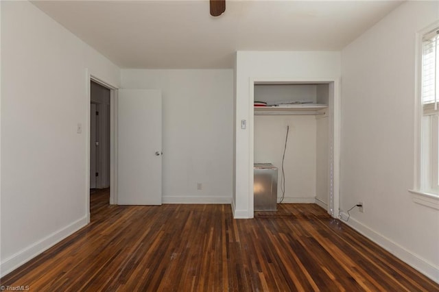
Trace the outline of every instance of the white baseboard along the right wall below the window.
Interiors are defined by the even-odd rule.
[[[348,218],[348,214],[346,212],[340,212],[340,216],[346,220]],[[429,263],[428,260],[421,258],[420,256],[413,254],[409,250],[406,250],[404,247],[395,243],[394,241],[388,239],[387,237],[375,232],[374,230],[368,228],[368,226],[360,223],[355,218],[351,216],[349,221],[341,220],[346,225],[351,228],[357,230],[357,232],[363,234],[371,241],[377,243],[377,245],[383,247],[384,250],[387,250],[397,258],[403,260],[407,265],[414,267],[421,273],[423,273],[431,280],[439,283],[439,267],[434,265],[433,263]]]

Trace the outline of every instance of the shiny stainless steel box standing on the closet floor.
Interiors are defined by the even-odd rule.
[[[277,167],[271,163],[254,164],[254,210],[276,211]]]

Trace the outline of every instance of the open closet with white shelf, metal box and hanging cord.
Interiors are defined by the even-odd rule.
[[[337,80],[255,80],[251,87],[250,206],[275,214],[279,204],[314,204],[336,217]]]

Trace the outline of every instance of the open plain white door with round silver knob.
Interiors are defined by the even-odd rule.
[[[118,99],[118,204],[161,205],[161,91],[121,89]]]

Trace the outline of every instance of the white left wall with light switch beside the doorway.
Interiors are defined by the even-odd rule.
[[[115,86],[119,69],[32,3],[0,5],[4,275],[87,223],[86,68]]]

